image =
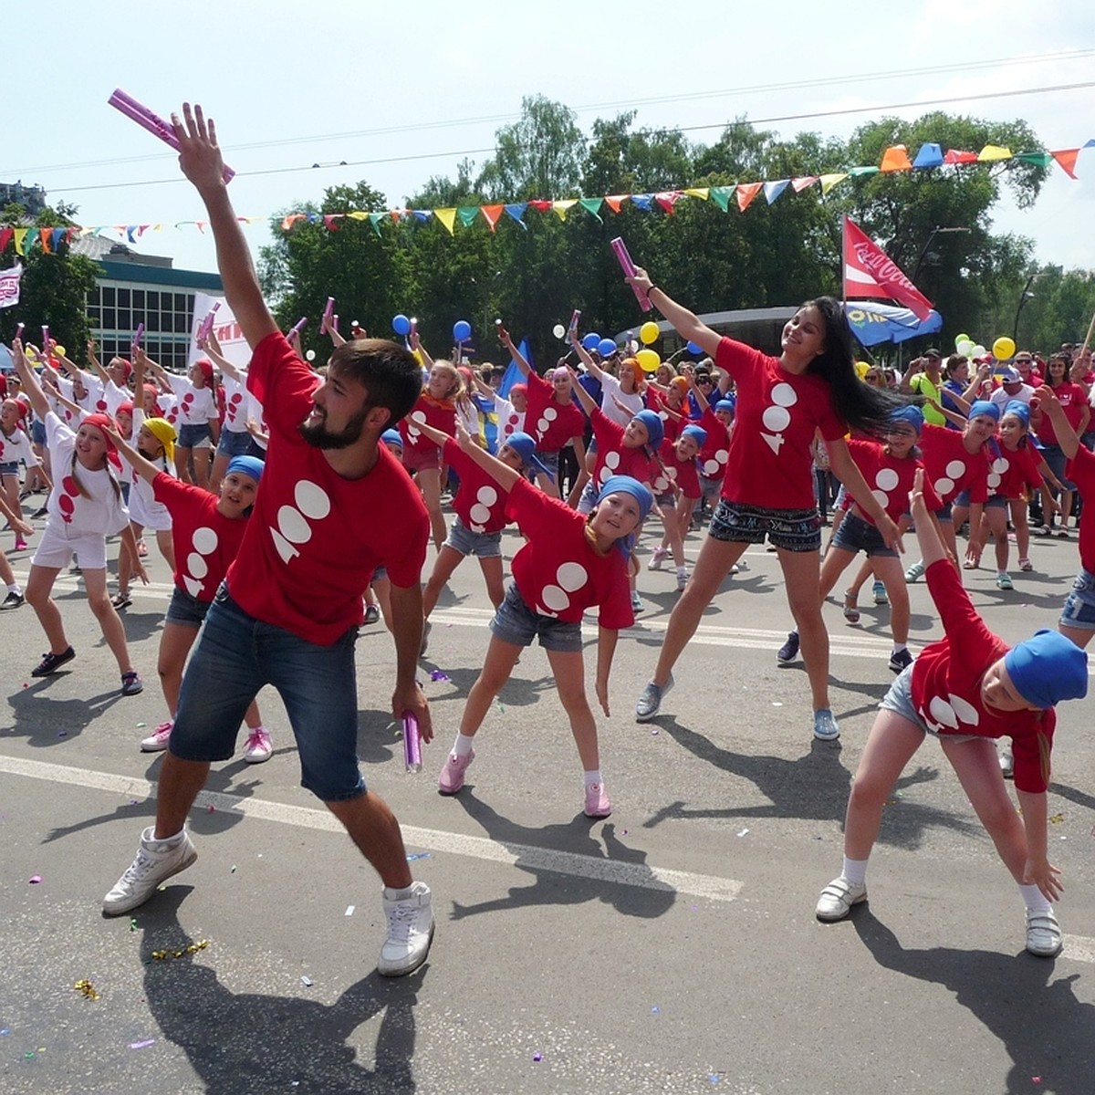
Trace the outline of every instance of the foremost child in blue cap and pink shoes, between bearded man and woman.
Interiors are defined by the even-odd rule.
[[[654,504],[649,489],[626,475],[601,484],[588,517],[538,491],[509,464],[492,457],[458,426],[460,448],[488,472],[506,497],[506,514],[526,537],[514,556],[514,580],[491,622],[491,645],[483,670],[468,694],[460,733],[437,781],[443,795],[464,785],[475,758],[475,734],[494,698],[509,680],[521,650],[534,638],[548,654],[558,698],[570,722],[585,773],[585,814],[608,817],[597,723],[586,699],[581,618],[599,608],[596,692],[609,714],[609,671],[621,627],[634,621],[627,596],[627,560],[635,530]]]

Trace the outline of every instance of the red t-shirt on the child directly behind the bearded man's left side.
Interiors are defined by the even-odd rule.
[[[218,512],[217,495],[166,472],[152,481],[152,491],[171,514],[175,585],[195,600],[211,601],[239,553],[247,521]]]

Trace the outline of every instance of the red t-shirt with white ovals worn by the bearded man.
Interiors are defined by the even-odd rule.
[[[255,347],[247,387],[266,410],[270,440],[228,584],[255,619],[330,646],[361,622],[361,593],[378,566],[401,589],[418,584],[429,518],[387,446],[368,475],[348,480],[300,436],[318,383],[280,332]]]

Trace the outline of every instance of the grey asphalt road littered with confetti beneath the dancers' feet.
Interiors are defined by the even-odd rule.
[[[1054,624],[1076,569],[1074,542],[1036,541],[1033,555],[1037,572],[1015,575],[1013,592],[991,572],[967,576],[1008,641]],[[12,558],[25,574],[27,557]],[[423,679],[438,740],[418,775],[404,773],[388,714],[390,638],[362,632],[366,779],[399,816],[438,921],[427,966],[396,981],[374,972],[378,880],[300,788],[268,693],[275,756],[214,772],[192,816],[197,863],[132,918],[103,918],[153,815],[160,760],[138,741],[164,717],[154,667],[170,576],[153,557],[153,585],[126,612],[147,682],[137,698],[117,694],[78,579],[57,589],[78,657],[53,679],[30,677],[44,648],[30,608],[0,614],[0,1090],[1095,1090],[1095,699],[1061,712],[1053,753],[1063,955],[1024,953],[1016,888],[933,741],[887,807],[869,902],[820,924],[814,904],[839,873],[851,776],[891,679],[886,609],[865,608],[855,627],[827,609],[843,733],[815,742],[802,665],[775,664],[787,627],[775,556],[747,561],[649,725],[634,702],[677,593],[671,568],[642,574],[647,611],[621,638],[612,717],[599,721],[615,805],[604,821],[580,812],[539,649],[488,717],[469,786],[437,794],[488,638],[474,562],[434,618]],[[937,634],[923,585],[912,623],[914,644]]]

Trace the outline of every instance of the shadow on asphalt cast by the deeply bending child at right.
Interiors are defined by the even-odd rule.
[[[1095,1006],[1076,999],[1073,982],[1079,973],[1052,980],[1053,959],[1025,950],[1018,955],[954,947],[908,950],[866,906],[854,909],[851,920],[880,966],[943,986],[1000,1039],[1012,1060],[1007,1095],[1092,1090]],[[1022,925],[1021,915],[1015,923]]]

